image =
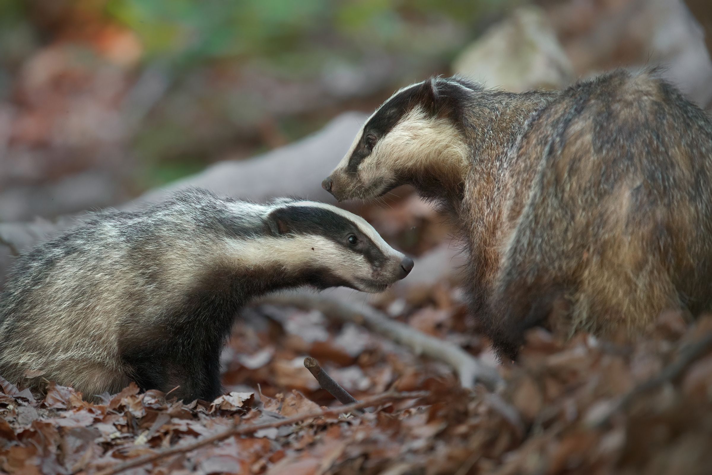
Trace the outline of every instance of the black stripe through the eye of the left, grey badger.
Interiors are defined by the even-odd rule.
[[[381,266],[387,256],[356,224],[345,216],[318,207],[286,207],[273,213],[293,234],[315,234],[330,239],[345,249],[362,254],[372,266]],[[358,242],[350,246],[347,237],[355,234]]]

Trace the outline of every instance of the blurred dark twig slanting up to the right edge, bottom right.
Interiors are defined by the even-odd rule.
[[[656,387],[663,385],[665,382],[675,380],[681,372],[685,370],[693,361],[701,357],[709,348],[712,348],[712,332],[706,333],[702,338],[696,340],[689,345],[683,347],[680,355],[663,368],[659,374],[651,377],[649,380],[642,382],[632,390],[622,396],[613,406],[608,409],[602,416],[590,425],[596,429],[604,427],[610,421],[614,414],[622,409],[626,409],[633,400],[644,392],[654,390]]]

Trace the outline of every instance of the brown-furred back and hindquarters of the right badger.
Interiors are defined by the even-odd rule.
[[[487,324],[506,353],[557,299],[571,330],[710,307],[712,124],[654,71],[564,91],[501,174]]]

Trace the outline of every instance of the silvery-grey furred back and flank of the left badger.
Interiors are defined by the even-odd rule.
[[[120,344],[160,340],[162,320],[189,316],[187,298],[219,263],[221,236],[246,229],[224,223],[216,198],[194,191],[145,211],[99,213],[19,257],[0,296],[0,375],[43,372],[85,391],[119,390],[128,382]]]

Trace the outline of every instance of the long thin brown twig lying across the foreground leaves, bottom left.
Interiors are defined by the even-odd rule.
[[[273,422],[266,422],[264,424],[254,424],[254,425],[251,425],[248,427],[233,426],[230,429],[226,429],[223,432],[219,432],[217,434],[211,435],[210,437],[204,437],[203,439],[200,439],[197,442],[193,442],[192,444],[179,445],[177,447],[171,447],[169,449],[156,451],[153,454],[147,454],[145,456],[139,456],[139,457],[136,457],[135,459],[127,460],[124,463],[118,464],[117,466],[115,466],[111,469],[106,469],[105,471],[101,471],[100,475],[115,475],[115,474],[118,474],[124,470],[132,469],[134,467],[141,466],[143,464],[148,464],[152,461],[156,461],[158,459],[163,459],[164,457],[171,456],[174,454],[187,453],[189,451],[199,449],[200,447],[203,447],[205,445],[212,444],[214,442],[219,442],[221,440],[224,440],[224,439],[227,439],[227,438],[233,437],[233,436],[254,434],[255,432],[258,432],[262,429],[271,429],[273,427],[281,427],[281,426],[286,426],[286,425],[290,425],[290,424],[296,424],[297,422],[303,422],[306,419],[314,419],[316,417],[325,417],[325,416],[334,416],[334,415],[339,415],[339,414],[345,414],[347,412],[354,412],[357,409],[364,409],[365,407],[379,406],[386,402],[392,402],[392,401],[397,401],[397,400],[407,400],[407,399],[419,399],[421,397],[426,397],[429,394],[430,393],[427,391],[412,391],[412,392],[389,391],[389,392],[384,392],[382,395],[370,397],[367,400],[364,400],[361,402],[356,402],[354,404],[348,404],[346,406],[333,407],[330,409],[322,409],[320,411],[308,412],[305,414],[298,414],[294,417],[288,417],[287,419],[282,419],[282,420],[273,421]]]

